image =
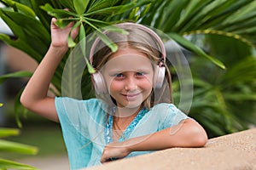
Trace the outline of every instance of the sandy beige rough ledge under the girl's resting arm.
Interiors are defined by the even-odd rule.
[[[203,148],[172,148],[90,167],[90,170],[256,169],[256,128],[209,139]]]

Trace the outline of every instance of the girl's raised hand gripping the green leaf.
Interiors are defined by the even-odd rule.
[[[51,20],[51,46],[55,48],[68,48],[67,46],[67,37],[71,31],[71,37],[74,40],[75,37],[79,34],[79,27],[72,30],[74,25],[73,22],[69,23],[65,28],[60,28],[55,25],[56,19]]]

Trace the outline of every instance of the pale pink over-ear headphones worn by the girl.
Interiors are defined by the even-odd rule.
[[[160,37],[151,29],[149,29],[146,26],[137,24],[137,23],[131,23],[131,22],[125,22],[118,24],[116,26],[136,26],[137,28],[141,29],[142,31],[146,31],[150,36],[154,37],[156,40],[159,48],[160,48],[160,60],[158,65],[155,66],[154,70],[154,88],[161,88],[165,79],[166,74],[166,67],[164,66],[166,62],[166,48],[164,46],[164,43],[161,41]],[[106,32],[104,32],[106,33]],[[93,62],[93,55],[95,53],[96,46],[98,45],[98,42],[100,42],[100,38],[97,37],[96,41],[92,44],[90,49],[90,65],[92,65]],[[96,71],[92,74],[92,79],[94,82],[94,88],[96,91],[96,94],[108,94],[108,88],[107,84],[100,73],[100,71]]]

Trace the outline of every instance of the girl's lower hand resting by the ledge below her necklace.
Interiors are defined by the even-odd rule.
[[[124,145],[122,142],[113,142],[105,146],[101,162],[113,161],[116,159],[124,158],[131,153],[129,147]]]

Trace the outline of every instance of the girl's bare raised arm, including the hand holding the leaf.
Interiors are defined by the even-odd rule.
[[[31,79],[20,97],[20,102],[28,110],[58,122],[55,110],[55,99],[47,96],[49,83],[60,64],[64,54],[67,53],[67,37],[73,23],[61,29],[55,26],[55,19],[51,20],[51,44],[44,59],[38,65]],[[78,35],[78,28],[72,31],[73,39]]]

